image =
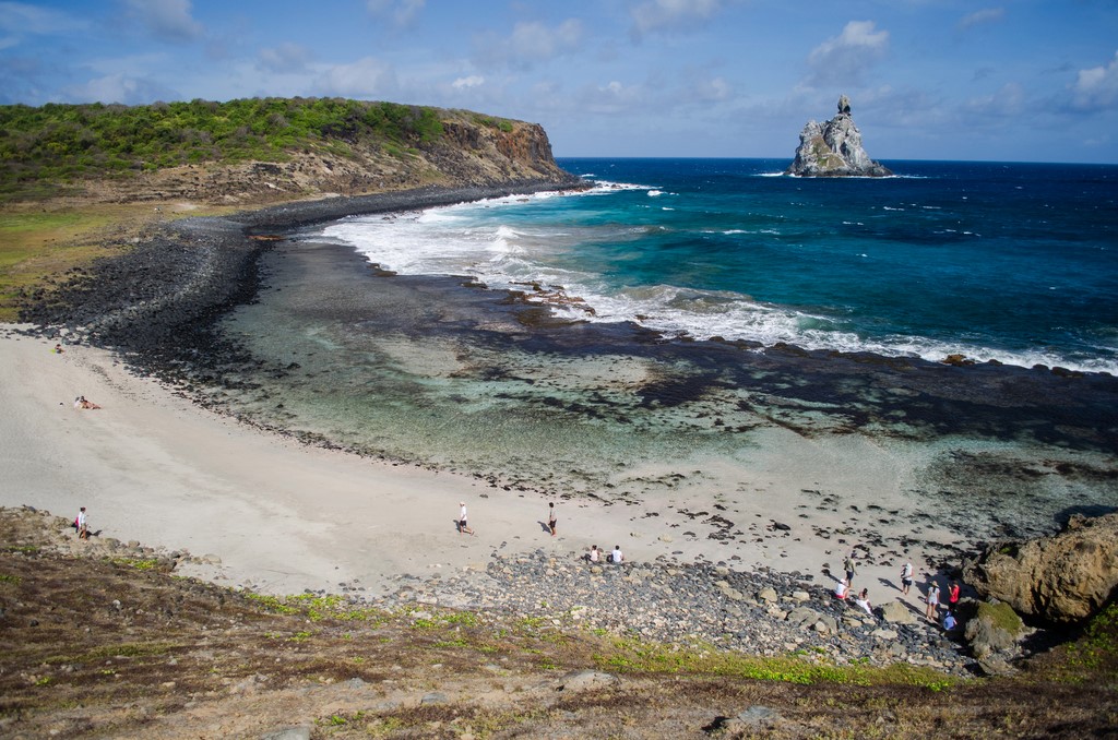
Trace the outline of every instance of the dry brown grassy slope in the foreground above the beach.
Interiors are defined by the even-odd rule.
[[[0,734],[287,738],[1110,737],[1100,619],[1017,679],[957,682],[416,603],[276,599],[0,509]],[[78,576],[80,573],[80,576]],[[1109,649],[1107,647],[1106,649]],[[1109,706],[1108,711],[1106,708]]]

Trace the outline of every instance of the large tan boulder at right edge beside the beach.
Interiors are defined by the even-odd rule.
[[[1118,595],[1118,513],[1077,514],[1059,534],[994,544],[964,565],[963,577],[1021,615],[1086,619]]]

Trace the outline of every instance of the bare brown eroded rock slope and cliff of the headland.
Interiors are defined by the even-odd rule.
[[[201,163],[145,172],[125,180],[85,183],[97,202],[187,201],[258,206],[294,199],[360,196],[424,186],[496,186],[577,178],[556,164],[539,124],[447,112],[443,135],[400,146],[338,142],[287,152],[282,162]]]

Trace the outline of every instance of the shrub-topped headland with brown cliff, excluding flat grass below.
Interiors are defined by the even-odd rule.
[[[0,106],[0,203],[259,205],[568,179],[538,124],[342,98]]]

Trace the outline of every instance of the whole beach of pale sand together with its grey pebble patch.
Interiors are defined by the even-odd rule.
[[[341,595],[418,615],[519,614],[758,655],[814,645],[840,664],[972,670],[959,646],[918,616],[922,586],[945,578],[934,547],[913,548],[918,581],[902,596],[900,562],[860,539],[813,537],[790,499],[767,500],[764,524],[741,523],[756,535],[749,541],[680,534],[686,526],[717,535],[728,521],[721,514],[743,515],[701,492],[686,495],[686,513],[560,500],[551,537],[539,494],[301,444],[200,408],[106,350],[53,347],[27,326],[0,328],[0,372],[12,380],[0,386],[0,424],[12,440],[0,452],[0,506],[60,516],[64,552],[158,557],[177,576],[235,590]],[[76,392],[101,408],[75,408]],[[456,531],[458,501],[467,502],[474,535]],[[88,509],[89,542],[64,525],[78,506]],[[625,565],[589,567],[590,544],[619,544]],[[883,626],[831,597],[831,573],[855,544],[855,585],[875,606],[900,601],[911,625]]]

